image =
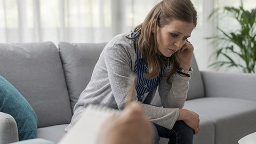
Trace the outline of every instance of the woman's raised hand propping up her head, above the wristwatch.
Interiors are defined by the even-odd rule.
[[[194,46],[186,41],[185,44],[177,51],[177,57],[180,60],[180,68],[189,70]]]

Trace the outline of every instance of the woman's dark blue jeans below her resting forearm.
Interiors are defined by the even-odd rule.
[[[158,144],[159,137],[169,139],[168,144],[193,143],[194,130],[183,121],[176,121],[172,130],[153,123],[153,130],[155,133],[155,144]]]

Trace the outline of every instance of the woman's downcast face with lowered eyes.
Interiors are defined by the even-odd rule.
[[[157,26],[157,44],[158,49],[165,57],[171,55],[186,43],[186,39],[190,37],[194,24],[180,20],[172,20],[169,25],[162,28]]]

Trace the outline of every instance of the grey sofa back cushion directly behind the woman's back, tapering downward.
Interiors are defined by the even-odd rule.
[[[94,66],[106,44],[59,43],[72,110],[81,92],[89,83]]]

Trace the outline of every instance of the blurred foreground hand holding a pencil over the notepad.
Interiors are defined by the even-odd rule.
[[[138,102],[132,102],[121,115],[110,117],[102,126],[98,144],[118,143],[153,143],[151,124]]]

